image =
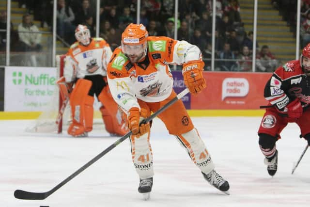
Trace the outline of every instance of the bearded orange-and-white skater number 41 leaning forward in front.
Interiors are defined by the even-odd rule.
[[[151,123],[141,119],[151,115],[176,96],[169,64],[183,64],[183,76],[190,93],[206,87],[203,62],[197,46],[169,37],[148,36],[142,24],[130,24],[122,34],[122,46],[116,48],[108,64],[108,82],[114,100],[128,114],[132,160],[140,177],[138,191],[147,196],[153,185]],[[182,100],[163,111],[158,118],[184,146],[203,177],[220,191],[229,190],[228,182],[214,164]]]

